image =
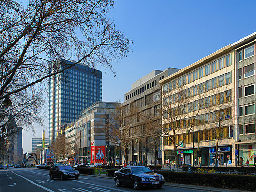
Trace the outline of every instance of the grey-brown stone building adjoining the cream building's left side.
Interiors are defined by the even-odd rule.
[[[170,76],[171,74],[179,71],[179,69],[168,68],[164,71],[153,70],[153,72],[147,74],[141,79],[137,80],[132,84],[132,89],[124,94],[124,100],[121,104],[124,108],[129,110],[136,109],[138,114],[151,115],[155,117],[155,120],[161,119],[160,115],[155,114],[156,100],[160,100],[160,89],[159,81]],[[133,135],[133,140],[128,151],[129,161],[144,161],[150,163],[162,162],[162,154],[160,151],[160,140],[153,138],[148,127],[143,122],[137,122],[131,125],[131,129],[136,130],[136,134]],[[125,159],[124,154],[122,159]]]

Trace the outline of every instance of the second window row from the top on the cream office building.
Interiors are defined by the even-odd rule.
[[[216,87],[220,87],[223,85],[227,85],[229,83],[231,83],[231,72],[226,73],[224,75],[220,75],[213,79],[210,79],[199,85],[195,85],[189,89],[182,90],[181,93],[172,94],[170,97],[165,99],[165,102],[168,102],[169,104],[175,103],[175,102],[178,102],[179,100],[184,100],[184,98],[196,96],[198,94],[208,92],[211,89],[214,89]],[[167,89],[164,89],[163,92],[167,92]]]

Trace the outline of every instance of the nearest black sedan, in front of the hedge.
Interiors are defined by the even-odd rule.
[[[134,189],[141,187],[157,187],[164,185],[164,177],[154,173],[145,166],[127,166],[115,171],[115,185],[132,185]]]

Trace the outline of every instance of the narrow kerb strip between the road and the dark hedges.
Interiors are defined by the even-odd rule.
[[[106,176],[106,174],[101,174],[100,176],[98,176],[98,175],[87,175],[87,174],[80,174],[80,175],[90,176],[90,177],[97,177],[97,178],[114,179],[113,177]],[[213,188],[213,187],[208,187],[208,186],[174,184],[174,183],[169,183],[169,182],[165,182],[164,186],[176,187],[176,188],[185,188],[185,189],[193,189],[193,190],[216,191],[216,192],[227,192],[227,191],[230,191],[230,192],[233,192],[233,191],[243,192],[244,191],[244,190],[220,189],[220,188]]]

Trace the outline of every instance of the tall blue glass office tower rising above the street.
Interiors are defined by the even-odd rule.
[[[58,62],[72,64],[64,59]],[[76,64],[61,75],[65,78],[50,77],[49,82],[50,142],[64,123],[75,122],[82,110],[102,99],[101,71]]]

